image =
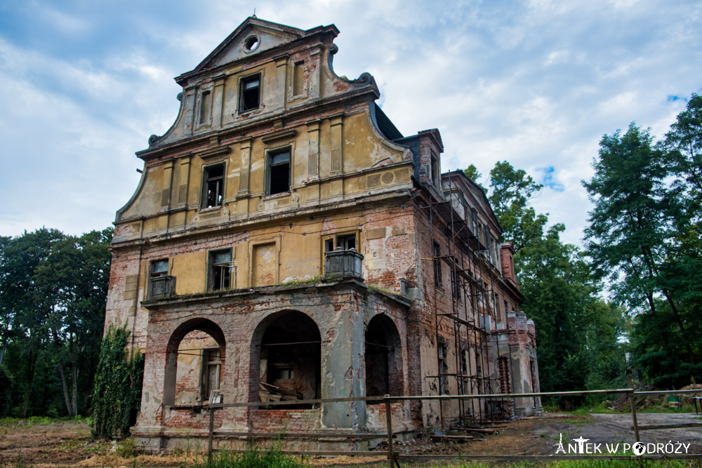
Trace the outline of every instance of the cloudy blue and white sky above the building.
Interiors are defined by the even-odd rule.
[[[702,3],[658,0],[0,0],[0,235],[102,229],[131,196],[173,76],[253,14],[336,24],[338,74],[375,76],[405,135],[439,128],[444,171],[507,160],[579,243],[604,133],[668,130],[702,92]]]

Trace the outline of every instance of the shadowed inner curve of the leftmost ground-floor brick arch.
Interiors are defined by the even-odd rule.
[[[217,342],[220,347],[221,359],[225,359],[226,340],[222,328],[209,319],[196,317],[181,323],[176,330],[173,330],[166,345],[166,372],[164,374],[164,405],[176,403],[176,377],[178,370],[178,346],[183,341],[185,335],[192,331],[207,333]]]

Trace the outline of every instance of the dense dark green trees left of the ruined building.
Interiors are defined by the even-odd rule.
[[[88,410],[111,239],[112,229],[67,236],[42,228],[0,237],[0,361],[14,382],[11,414]]]

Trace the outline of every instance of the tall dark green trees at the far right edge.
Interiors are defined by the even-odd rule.
[[[585,231],[594,272],[633,317],[642,377],[661,387],[702,377],[701,129],[693,95],[663,142],[634,123],[604,135],[583,182],[595,205]]]

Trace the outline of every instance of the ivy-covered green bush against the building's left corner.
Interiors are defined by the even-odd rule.
[[[112,328],[100,345],[93,392],[93,439],[124,439],[136,421],[141,403],[144,356],[126,352],[129,332]]]

